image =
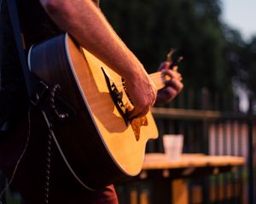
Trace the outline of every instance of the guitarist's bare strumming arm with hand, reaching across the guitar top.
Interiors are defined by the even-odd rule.
[[[137,57],[131,53],[90,0],[40,0],[47,14],[63,31],[125,78],[135,104],[132,116],[145,115],[156,89]]]

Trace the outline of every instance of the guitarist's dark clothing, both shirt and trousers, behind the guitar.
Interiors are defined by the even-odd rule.
[[[1,1],[1,0],[0,0]],[[20,191],[26,204],[45,203],[47,139],[49,130],[42,113],[32,109],[28,116],[28,102],[25,82],[20,67],[19,55],[10,26],[7,9],[8,0],[3,0],[0,14],[0,126],[7,119],[12,127],[6,132],[0,130],[0,169],[10,178],[15,165],[20,165],[15,173],[13,184]],[[39,0],[17,0],[20,12],[21,30],[25,37],[26,48],[33,43],[43,42],[49,37],[60,34]],[[72,135],[71,135],[72,136]],[[51,165],[49,175],[49,203],[117,204],[113,185],[102,190],[86,190],[69,172],[54,142],[51,145]]]

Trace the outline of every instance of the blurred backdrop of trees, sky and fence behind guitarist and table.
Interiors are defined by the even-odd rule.
[[[160,137],[147,152],[164,151],[163,134],[182,133],[183,153],[243,156],[236,171],[185,178],[189,203],[256,203],[255,0],[102,0],[101,8],[149,73],[170,48],[183,56],[183,92],[154,108]],[[120,204],[155,203],[152,189],[150,181],[119,184]],[[9,190],[5,201],[20,197]]]

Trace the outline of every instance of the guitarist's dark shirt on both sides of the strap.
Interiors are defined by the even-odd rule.
[[[9,19],[6,0],[0,13],[0,127],[7,120],[20,118],[27,110],[26,85],[15,46],[15,37]],[[44,42],[55,37],[61,30],[55,26],[44,12],[38,0],[18,0],[20,26],[25,38],[26,48],[34,43]]]

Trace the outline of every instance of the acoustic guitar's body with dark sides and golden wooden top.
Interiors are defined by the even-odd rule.
[[[140,172],[146,143],[158,131],[150,112],[138,127],[127,121],[131,102],[122,77],[67,34],[32,47],[28,64],[50,87],[59,84],[61,98],[76,111],[68,122],[55,122],[54,133],[62,156],[86,186],[100,188]],[[115,88],[121,100],[115,101]]]

